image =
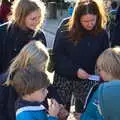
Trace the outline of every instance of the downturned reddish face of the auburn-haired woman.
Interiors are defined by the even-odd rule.
[[[86,30],[92,30],[96,25],[97,16],[93,14],[86,14],[81,16],[80,23]]]

